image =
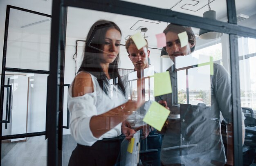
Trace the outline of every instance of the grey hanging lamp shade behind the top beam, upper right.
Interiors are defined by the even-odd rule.
[[[209,10],[209,11],[204,12],[204,18],[216,20],[216,11]],[[223,35],[222,32],[209,31],[206,29],[200,29],[200,31],[199,31],[200,39],[215,39],[215,38],[220,38],[222,35]]]

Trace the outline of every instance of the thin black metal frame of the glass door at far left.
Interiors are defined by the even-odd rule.
[[[40,136],[40,135],[45,135],[45,132],[32,132],[32,133],[25,133],[25,134],[18,134],[18,135],[5,135],[2,136],[2,123],[9,123],[9,117],[7,121],[2,121],[3,118],[3,103],[4,103],[4,88],[7,87],[7,85],[4,85],[5,81],[5,72],[23,72],[23,73],[34,73],[34,74],[49,74],[49,71],[45,70],[30,70],[30,69],[19,69],[19,68],[11,68],[11,67],[6,67],[6,56],[7,56],[7,38],[8,38],[8,28],[9,28],[9,14],[10,14],[10,9],[17,9],[21,11],[26,11],[29,13],[34,13],[38,14],[41,16],[46,16],[51,18],[52,16],[36,11],[31,11],[28,9],[23,9],[20,7],[14,7],[11,5],[7,5],[6,9],[6,18],[5,18],[5,29],[4,29],[4,49],[3,49],[3,58],[2,58],[2,77],[1,77],[1,88],[0,88],[0,140],[6,140],[6,139],[15,139],[15,138],[25,138],[25,137],[34,137],[34,136]],[[9,96],[11,97],[11,96]],[[0,152],[2,149],[2,144],[0,144]],[[1,165],[1,163],[0,163]]]

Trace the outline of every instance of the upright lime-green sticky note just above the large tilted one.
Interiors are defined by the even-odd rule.
[[[172,92],[169,72],[154,74],[154,95],[161,96]]]

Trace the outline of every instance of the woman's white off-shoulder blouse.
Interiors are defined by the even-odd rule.
[[[76,142],[85,146],[92,146],[96,141],[103,138],[113,138],[121,135],[121,123],[111,126],[111,130],[97,138],[90,130],[92,116],[108,112],[126,102],[124,94],[117,85],[107,85],[110,88],[108,95],[103,92],[95,76],[92,77],[94,92],[83,96],[72,97],[72,85],[68,90],[68,109],[70,111],[70,132]],[[108,126],[107,126],[108,127]]]

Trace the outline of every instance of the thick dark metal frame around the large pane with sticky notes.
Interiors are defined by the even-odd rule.
[[[235,0],[227,0],[227,13],[229,22],[221,22],[218,20],[209,20],[198,16],[171,11],[169,9],[159,9],[141,4],[124,2],[121,0],[54,0],[52,5],[52,36],[51,36],[51,60],[50,60],[50,77],[52,85],[47,87],[47,101],[52,98],[47,109],[51,110],[51,130],[49,132],[48,141],[48,165],[61,165],[57,161],[57,137],[58,130],[55,126],[58,123],[58,103],[61,93],[60,78],[58,71],[64,66],[64,54],[61,42],[64,37],[63,32],[63,10],[67,7],[78,7],[91,9],[96,11],[105,11],[110,13],[124,14],[128,16],[136,16],[150,20],[159,20],[164,22],[173,22],[175,24],[219,31],[230,34],[230,54],[231,54],[231,79],[232,79],[232,108],[233,108],[233,135],[234,135],[234,164],[239,166],[243,164],[242,156],[242,121],[241,114],[238,113],[240,108],[240,92],[239,92],[239,67],[238,67],[238,43],[237,36],[256,38],[256,29],[238,26],[236,22]],[[62,134],[62,133],[61,133]],[[60,161],[60,160],[59,160]]]

